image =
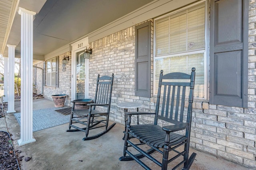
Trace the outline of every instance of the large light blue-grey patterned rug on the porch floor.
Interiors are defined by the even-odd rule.
[[[14,113],[14,116],[20,124],[20,113]],[[69,120],[70,115],[59,113],[56,107],[33,110],[33,132],[68,123]]]

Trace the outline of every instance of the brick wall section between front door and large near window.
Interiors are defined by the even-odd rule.
[[[149,110],[150,107],[154,107],[154,103],[150,102],[150,98],[134,96],[135,25],[94,41],[90,43],[90,47],[93,49],[89,64],[89,96],[91,98],[95,93],[94,84],[96,84],[97,75],[110,76],[114,73],[110,120],[124,124],[123,109],[116,106],[121,102],[140,102],[144,105],[144,110]],[[153,59],[153,43],[151,49],[151,58]],[[151,74],[151,80],[153,80],[153,72]],[[151,86],[153,86],[153,82]],[[146,119],[142,119],[142,121],[146,121]],[[134,119],[133,121],[135,122],[136,120]],[[151,121],[153,121],[153,119]]]

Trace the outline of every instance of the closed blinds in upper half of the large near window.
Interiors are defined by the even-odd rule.
[[[205,3],[156,21],[156,56],[205,48]]]

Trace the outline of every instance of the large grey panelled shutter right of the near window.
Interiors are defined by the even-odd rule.
[[[210,104],[247,107],[248,0],[211,0]]]

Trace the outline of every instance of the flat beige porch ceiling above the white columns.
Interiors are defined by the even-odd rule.
[[[20,53],[21,21],[18,7],[37,13],[34,17],[33,53],[44,56],[152,1],[1,0],[0,54],[8,56],[6,44],[17,45],[16,54]]]

